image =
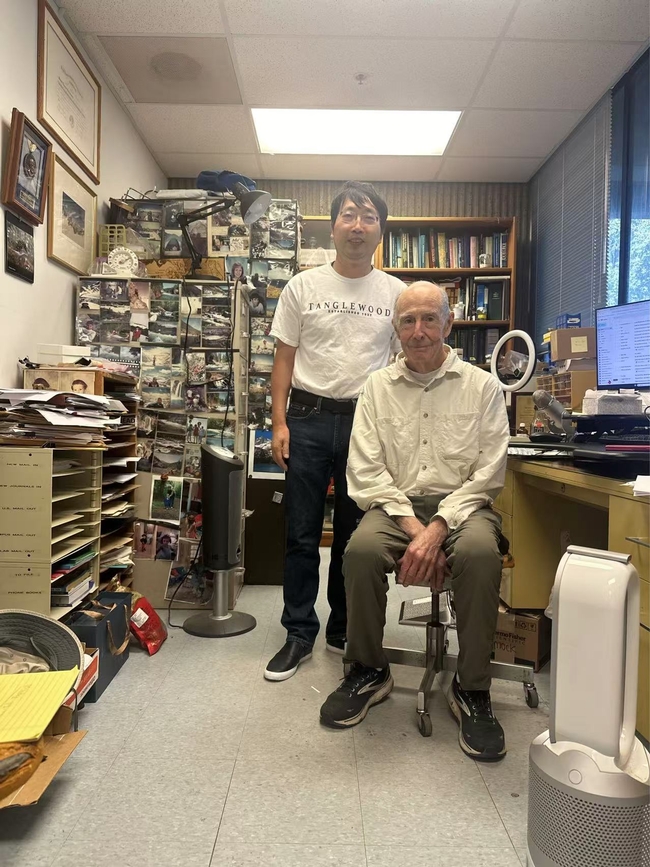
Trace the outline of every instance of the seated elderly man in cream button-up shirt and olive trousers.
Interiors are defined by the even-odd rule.
[[[413,283],[393,320],[403,351],[359,397],[347,479],[365,515],[343,560],[351,669],[321,722],[356,725],[393,688],[382,650],[387,574],[442,589],[449,570],[460,652],[448,701],[461,749],[489,761],[506,752],[489,690],[501,577],[491,503],[505,479],[508,418],[496,380],[445,344],[452,321],[443,289]]]

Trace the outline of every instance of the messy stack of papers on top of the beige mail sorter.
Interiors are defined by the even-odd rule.
[[[0,443],[53,447],[103,446],[104,432],[126,414],[124,404],[98,394],[0,389]]]

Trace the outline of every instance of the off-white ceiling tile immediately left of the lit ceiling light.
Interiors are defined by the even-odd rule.
[[[233,105],[128,106],[156,153],[257,153],[250,112]]]

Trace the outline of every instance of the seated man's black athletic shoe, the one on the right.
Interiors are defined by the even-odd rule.
[[[490,691],[462,689],[455,675],[447,700],[460,725],[458,742],[465,755],[479,762],[496,762],[506,754],[501,723],[492,713]]]

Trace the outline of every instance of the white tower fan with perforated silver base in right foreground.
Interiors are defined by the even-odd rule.
[[[530,747],[529,867],[650,867],[639,608],[629,555],[568,548],[553,587],[550,728]]]

